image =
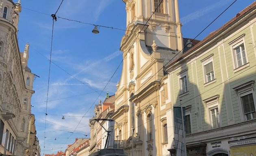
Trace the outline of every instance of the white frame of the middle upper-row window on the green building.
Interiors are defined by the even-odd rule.
[[[202,68],[203,68],[203,74],[204,74],[204,87],[206,87],[207,85],[210,85],[210,84],[216,82],[216,75],[215,75],[214,62],[213,62],[213,54],[211,54],[210,56],[204,58],[201,62],[202,62]],[[212,80],[208,81],[208,78],[207,78],[207,75],[206,75],[205,66],[207,64],[209,64],[210,62],[213,63],[213,75],[214,75],[214,78]]]

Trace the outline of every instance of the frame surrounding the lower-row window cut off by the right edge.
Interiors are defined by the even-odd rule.
[[[240,109],[240,117],[241,121],[245,122],[247,121],[244,110],[243,110],[243,102],[242,102],[242,97],[245,95],[248,95],[252,93],[253,100],[254,100],[254,107],[256,108],[256,95],[254,91],[254,80],[249,81],[243,85],[240,85],[238,87],[233,88],[236,91],[237,97],[238,97],[238,102],[239,102],[239,109]],[[250,121],[250,120],[248,120]]]

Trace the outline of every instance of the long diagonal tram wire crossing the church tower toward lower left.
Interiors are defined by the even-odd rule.
[[[152,15],[149,17],[149,19],[147,20],[147,22],[144,24],[143,28],[146,26],[146,24],[148,24],[148,21],[151,19],[151,17],[154,15],[154,13],[156,12],[156,10],[158,9],[158,7],[161,5],[161,3],[163,2],[163,0],[161,0],[161,2],[158,4],[158,6],[156,7],[156,9],[154,10],[154,12],[152,13]],[[133,41],[133,43],[135,43],[136,38],[139,36],[139,34],[141,33],[141,31],[143,30],[143,28],[137,33],[137,36],[135,37],[135,40]],[[132,44],[133,44],[132,43]],[[115,75],[116,71],[119,69],[121,63],[124,61],[124,58],[127,56],[129,50],[131,47],[129,47],[129,49],[126,52],[126,55],[123,57],[122,61],[120,62],[120,64],[118,65],[117,69],[115,70],[115,72],[112,74],[110,80],[113,78],[113,76]],[[107,82],[107,84],[105,85],[104,89],[106,88],[106,86],[108,85],[108,83],[110,82],[110,80]],[[102,92],[104,91],[104,89],[102,90]],[[99,98],[99,97],[98,97]],[[98,100],[98,98],[96,98],[96,100]],[[96,100],[93,102],[93,104],[91,105],[91,107],[95,104]],[[91,109],[91,107],[88,109],[88,111]],[[88,111],[85,113],[85,115],[88,113]],[[83,115],[83,116],[85,116]],[[82,118],[80,119],[78,125],[76,126],[76,128],[79,126],[79,124],[81,123]],[[76,130],[75,128],[75,130]],[[72,136],[72,134],[70,134],[70,137]]]

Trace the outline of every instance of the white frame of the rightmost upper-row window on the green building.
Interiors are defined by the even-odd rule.
[[[245,44],[245,34],[239,36],[238,38],[234,39],[233,41],[231,41],[228,44],[230,45],[230,50],[232,53],[234,73],[244,69],[245,67],[248,67],[249,61],[248,61],[248,56],[247,56],[246,44]],[[244,45],[244,48],[245,48],[246,63],[243,63],[241,66],[238,66],[235,49],[242,44]],[[243,58],[241,58],[241,59],[243,61]]]

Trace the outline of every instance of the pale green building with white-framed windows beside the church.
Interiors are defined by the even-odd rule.
[[[165,69],[169,113],[186,107],[188,156],[256,155],[256,2]]]

